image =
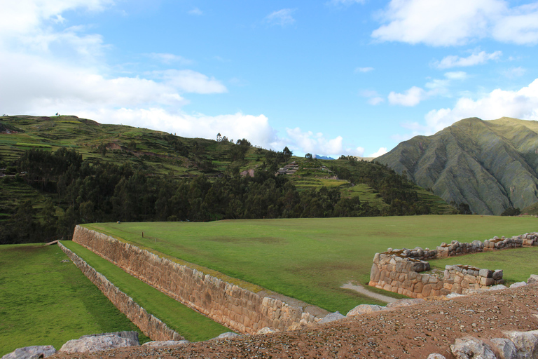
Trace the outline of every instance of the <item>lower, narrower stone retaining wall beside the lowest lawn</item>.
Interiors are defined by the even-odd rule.
[[[184,340],[177,332],[171,330],[165,323],[149,314],[142,306],[139,306],[131,297],[120,291],[105,276],[88,265],[81,257],[71,252],[62,243],[58,242],[60,248],[67,257],[84,273],[88,279],[118,308],[122,313],[135,323],[147,337],[152,340]]]

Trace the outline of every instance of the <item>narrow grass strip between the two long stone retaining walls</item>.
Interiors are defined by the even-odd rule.
[[[159,292],[142,280],[130,276],[83,246],[71,241],[62,241],[62,244],[83,258],[96,271],[102,273],[146,311],[163,320],[166,325],[189,341],[212,339],[221,333],[230,332],[227,327],[202,316],[202,314]]]

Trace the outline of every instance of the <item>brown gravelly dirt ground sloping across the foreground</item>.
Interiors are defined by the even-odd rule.
[[[510,330],[538,330],[538,285],[429,300],[292,332],[49,358],[453,358],[449,346],[457,338],[487,342]]]

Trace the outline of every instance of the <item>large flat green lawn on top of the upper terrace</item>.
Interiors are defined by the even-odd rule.
[[[357,304],[376,303],[340,289],[350,280],[368,281],[375,252],[389,247],[435,248],[452,240],[470,242],[513,236],[536,231],[538,220],[431,215],[85,226],[329,311],[345,313]],[[142,238],[142,231],[146,238]]]

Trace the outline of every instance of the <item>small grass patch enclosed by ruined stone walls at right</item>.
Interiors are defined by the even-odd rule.
[[[474,253],[460,257],[430,261],[432,268],[445,269],[447,264],[468,264],[476,268],[502,269],[504,284],[527,281],[531,274],[538,274],[538,248],[515,248],[495,252]]]

